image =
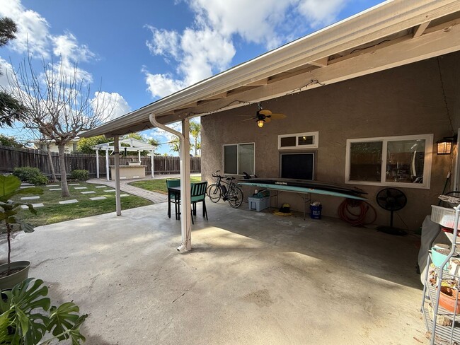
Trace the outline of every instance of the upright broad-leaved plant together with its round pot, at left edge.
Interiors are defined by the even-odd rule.
[[[28,277],[30,262],[20,261],[11,262],[11,232],[13,225],[17,224],[25,233],[33,232],[33,226],[16,218],[21,205],[28,206],[28,210],[33,214],[37,211],[31,204],[21,201],[11,200],[17,194],[42,194],[43,190],[39,187],[20,189],[21,180],[13,175],[0,175],[0,226],[6,226],[6,238],[8,242],[8,259],[6,264],[0,265],[0,289],[12,288],[17,283]]]

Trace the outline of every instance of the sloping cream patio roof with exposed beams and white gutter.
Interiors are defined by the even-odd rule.
[[[81,136],[122,135],[460,50],[460,1],[393,0],[289,42]]]

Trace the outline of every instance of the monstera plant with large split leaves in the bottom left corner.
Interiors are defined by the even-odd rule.
[[[34,278],[25,279],[11,291],[1,291],[0,344],[46,345],[70,339],[72,345],[78,345],[86,341],[80,326],[88,315],[79,315],[73,302],[50,307],[47,294],[43,281]]]

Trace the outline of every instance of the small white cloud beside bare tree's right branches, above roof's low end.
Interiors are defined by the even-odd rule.
[[[105,91],[98,91],[94,93],[92,100],[93,110],[101,112],[103,119],[109,121],[116,119],[122,115],[131,112],[131,107],[128,105],[125,98],[120,93],[108,93]]]

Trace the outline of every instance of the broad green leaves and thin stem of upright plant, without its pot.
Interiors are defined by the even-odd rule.
[[[19,180],[18,177],[13,175],[0,175],[0,224],[2,222],[6,224],[6,238],[8,242],[8,272],[6,275],[10,274],[11,232],[13,231],[13,224],[18,224],[25,233],[33,232],[33,226],[16,217],[19,206],[26,205],[30,212],[37,214],[37,211],[31,204],[11,200],[11,197],[17,194],[43,194],[43,189],[40,187],[24,189],[20,189],[19,187],[21,187],[21,180]],[[2,343],[0,342],[0,344]]]

